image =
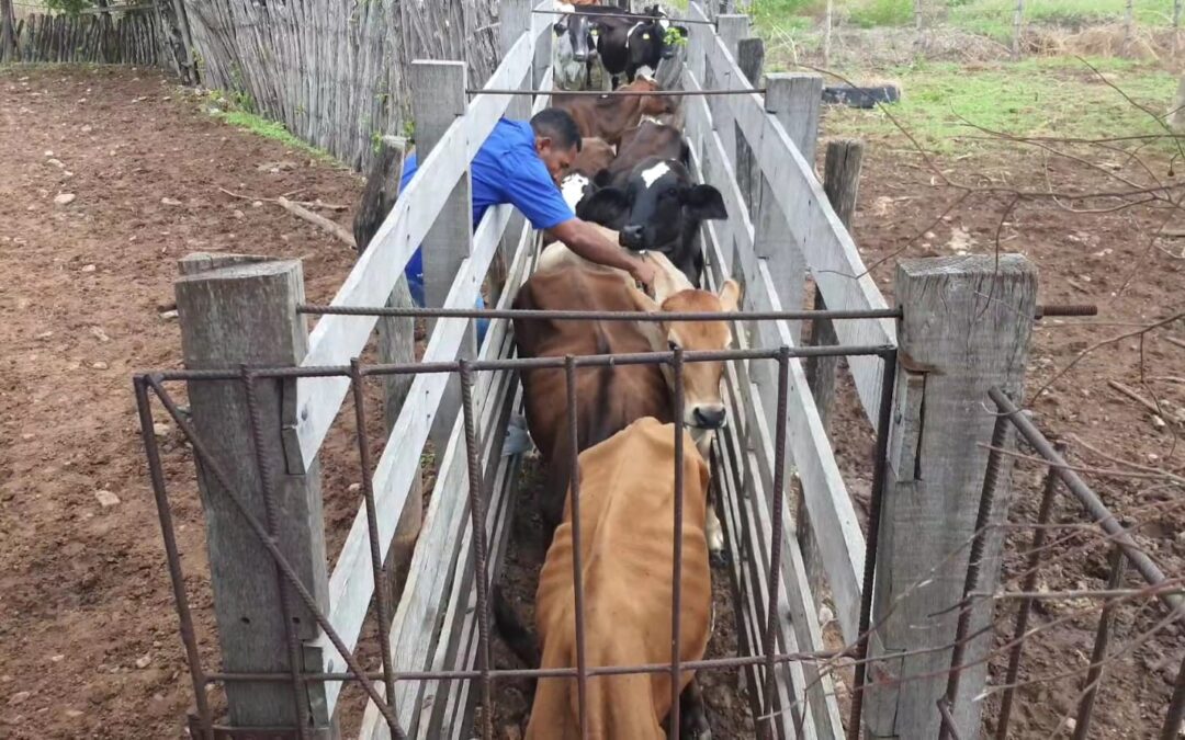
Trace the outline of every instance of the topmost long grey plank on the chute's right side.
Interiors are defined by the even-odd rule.
[[[724,50],[709,46],[709,57],[726,58]],[[776,116],[756,95],[724,96],[737,126],[754,149],[774,202],[781,208],[789,233],[833,309],[883,309],[884,296],[860,258],[856,244],[827,202],[822,185],[802,157]],[[844,345],[895,345],[896,333],[888,318],[841,321],[837,334]],[[852,358],[850,366],[865,416],[877,422],[880,372],[876,359]]]

